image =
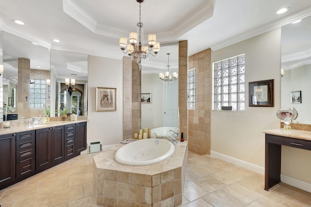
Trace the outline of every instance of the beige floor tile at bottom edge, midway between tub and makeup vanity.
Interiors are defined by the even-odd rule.
[[[244,207],[245,204],[242,203],[237,198],[229,195],[228,193],[219,190],[213,193],[210,193],[203,197],[208,203],[214,207]]]

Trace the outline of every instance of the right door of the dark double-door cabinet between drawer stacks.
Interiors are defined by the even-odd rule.
[[[52,165],[59,164],[65,159],[64,126],[52,128]]]

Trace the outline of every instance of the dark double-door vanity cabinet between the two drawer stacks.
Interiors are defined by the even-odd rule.
[[[35,132],[36,171],[44,171],[65,159],[64,126],[37,129]]]

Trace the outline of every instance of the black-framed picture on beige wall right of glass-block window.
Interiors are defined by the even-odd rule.
[[[274,79],[249,82],[248,106],[274,107]]]

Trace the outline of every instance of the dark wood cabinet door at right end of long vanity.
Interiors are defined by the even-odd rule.
[[[76,135],[76,155],[80,155],[80,152],[86,150],[86,122],[80,122],[75,127]]]

